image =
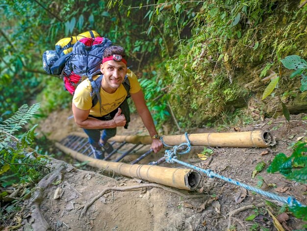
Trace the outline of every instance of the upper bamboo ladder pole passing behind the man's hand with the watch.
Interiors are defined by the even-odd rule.
[[[85,133],[78,136],[87,137]],[[273,136],[267,131],[198,133],[188,134],[191,145],[218,147],[268,147],[276,144]],[[186,143],[185,135],[163,136],[163,141],[169,145]],[[132,144],[151,144],[150,136],[115,136],[110,141],[128,142]]]

